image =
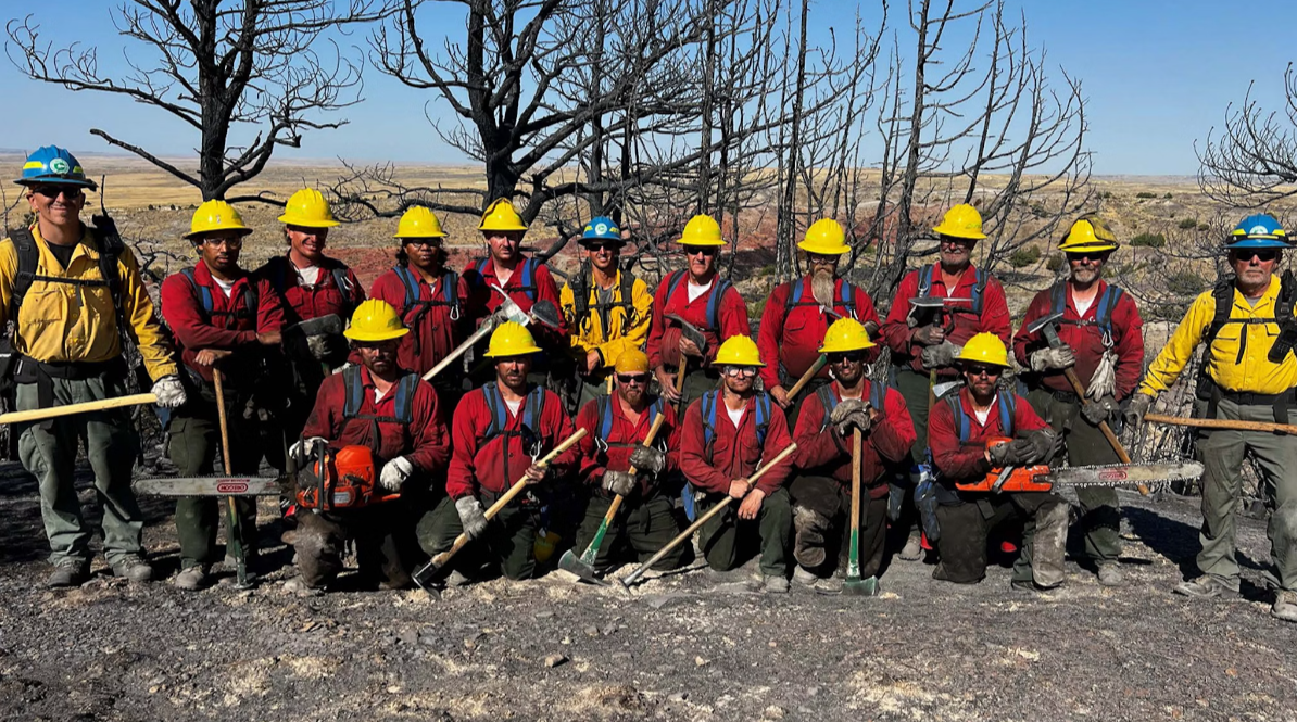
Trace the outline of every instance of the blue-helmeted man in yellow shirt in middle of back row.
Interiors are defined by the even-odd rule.
[[[572,329],[576,408],[607,394],[606,382],[617,358],[628,350],[643,351],[652,320],[648,284],[617,263],[626,242],[617,224],[611,218],[594,218],[580,242],[586,263],[559,292],[563,318]]]

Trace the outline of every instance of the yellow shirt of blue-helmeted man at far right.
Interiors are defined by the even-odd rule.
[[[1252,306],[1239,289],[1233,289],[1233,309],[1230,311],[1231,319],[1272,319],[1275,318],[1275,301],[1279,298],[1279,277],[1271,276],[1270,288]],[[1297,310],[1294,310],[1297,315]],[[1204,333],[1215,318],[1215,298],[1211,292],[1204,292],[1193,299],[1189,311],[1180,321],[1180,327],[1171,334],[1171,340],[1162,347],[1152,366],[1140,393],[1156,397],[1165,391],[1193,356],[1193,350],[1202,341]],[[1239,360],[1240,341],[1246,338],[1243,346],[1243,359]],[[1293,354],[1284,356],[1283,363],[1270,363],[1266,355],[1270,347],[1279,338],[1278,323],[1227,323],[1217,334],[1215,341],[1208,351],[1206,372],[1213,381],[1227,391],[1253,393],[1253,394],[1280,394],[1297,385],[1297,360]]]

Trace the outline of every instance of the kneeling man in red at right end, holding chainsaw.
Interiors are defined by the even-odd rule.
[[[923,526],[942,556],[933,578],[981,582],[986,577],[987,533],[1001,522],[1022,520],[1013,588],[1054,588],[1064,582],[1067,502],[1052,491],[991,494],[960,491],[955,485],[982,480],[992,468],[1041,463],[1057,451],[1058,436],[1026,399],[997,388],[1009,356],[996,334],[970,338],[958,362],[966,385],[936,403],[929,424],[936,480],[925,481],[916,493]],[[994,437],[1016,438],[987,448]]]

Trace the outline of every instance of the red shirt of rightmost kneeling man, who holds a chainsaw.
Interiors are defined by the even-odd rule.
[[[1004,389],[1001,394],[1008,394]],[[960,389],[960,403],[964,413],[969,417],[969,439],[960,443],[958,426],[955,423],[955,411],[951,404],[940,401],[929,411],[927,419],[927,446],[933,450],[933,464],[936,465],[942,478],[951,481],[965,481],[981,478],[991,471],[991,463],[986,460],[986,441],[991,437],[1021,436],[1025,432],[1035,432],[1045,428],[1045,423],[1036,415],[1027,403],[1027,399],[1016,397],[1013,415],[1013,433],[1000,428],[999,401],[991,401],[991,412],[986,416],[986,424],[977,420],[973,412],[973,397],[968,388]]]

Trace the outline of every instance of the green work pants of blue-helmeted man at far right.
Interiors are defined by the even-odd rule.
[[[1198,402],[1204,416],[1205,402]],[[1217,404],[1215,419],[1243,421],[1275,421],[1270,406],[1241,406],[1228,399]],[[1297,424],[1297,410],[1288,412],[1288,423]],[[1235,509],[1243,493],[1243,465],[1248,450],[1261,467],[1261,491],[1271,506],[1270,555],[1279,570],[1279,586],[1297,591],[1297,438],[1267,432],[1202,429],[1197,445],[1198,460],[1206,467],[1202,474],[1202,530],[1198,535],[1198,569],[1239,588],[1239,563],[1235,560]]]

